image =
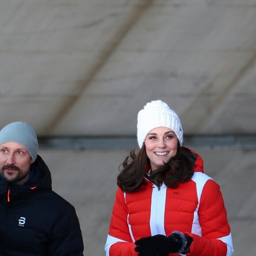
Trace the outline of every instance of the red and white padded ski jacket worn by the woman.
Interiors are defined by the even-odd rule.
[[[196,156],[194,174],[177,188],[167,188],[165,184],[158,188],[147,181],[146,188],[139,192],[125,193],[117,189],[105,244],[106,256],[137,256],[136,240],[157,234],[169,236],[175,230],[194,240],[187,256],[233,254],[219,185],[203,173],[200,155],[191,152]]]

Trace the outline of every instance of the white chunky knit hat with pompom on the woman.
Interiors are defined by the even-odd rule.
[[[181,120],[177,113],[161,100],[148,102],[138,113],[137,140],[140,148],[143,146],[147,134],[157,127],[172,129],[181,146],[183,145]]]

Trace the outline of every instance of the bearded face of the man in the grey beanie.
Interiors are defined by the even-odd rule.
[[[32,162],[29,152],[21,144],[5,142],[0,145],[0,175],[6,181],[23,184],[29,178]]]

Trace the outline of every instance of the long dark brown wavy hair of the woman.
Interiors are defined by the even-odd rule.
[[[189,181],[194,173],[192,153],[180,146],[178,142],[177,154],[169,162],[151,172],[147,177],[151,182],[164,182],[168,188],[177,188],[180,183]],[[146,147],[143,143],[142,148],[136,154],[136,149],[119,166],[120,173],[117,176],[117,185],[125,192],[137,192],[145,185],[147,166],[150,160],[147,157]]]

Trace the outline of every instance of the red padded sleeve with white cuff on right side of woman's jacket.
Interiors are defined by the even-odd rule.
[[[203,187],[198,210],[202,237],[186,233],[194,239],[187,256],[232,255],[230,225],[219,185],[208,180]]]

